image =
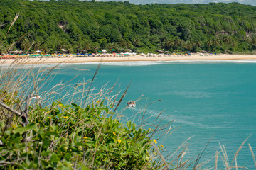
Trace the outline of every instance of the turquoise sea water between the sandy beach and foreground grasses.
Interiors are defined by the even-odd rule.
[[[92,79],[97,63],[63,64],[59,68],[53,82],[68,81],[75,76],[78,77],[74,81],[79,81]],[[256,61],[102,63],[92,86],[100,89],[108,83],[111,87],[117,80],[116,91],[124,91],[132,81],[120,108],[141,95],[147,98],[137,101],[137,107],[127,109],[124,115],[132,118],[144,108],[145,102],[153,102],[146,109],[146,116],[152,116],[146,123],[164,111],[160,118],[165,120],[161,124],[175,120],[171,127],[181,125],[166,140],[159,140],[165,153],[174,152],[193,136],[187,142],[188,157],[196,157],[210,140],[202,161],[220,151],[219,145],[225,145],[232,162],[242,142],[251,135],[237,159],[238,166],[255,167],[248,143],[256,154]],[[140,120],[139,116],[142,114],[136,120]]]

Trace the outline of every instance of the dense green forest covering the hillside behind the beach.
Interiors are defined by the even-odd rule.
[[[0,40],[0,52],[253,52],[256,7],[1,0]]]

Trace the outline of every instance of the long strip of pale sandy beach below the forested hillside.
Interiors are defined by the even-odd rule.
[[[256,55],[158,55],[125,57],[53,57],[53,58],[18,58],[0,59],[1,64],[60,64],[60,63],[90,63],[90,62],[159,62],[182,60],[256,60]]]

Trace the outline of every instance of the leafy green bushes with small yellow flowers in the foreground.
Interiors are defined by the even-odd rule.
[[[119,123],[103,101],[82,108],[59,101],[34,106],[30,123],[1,120],[1,169],[161,169],[149,135]]]

